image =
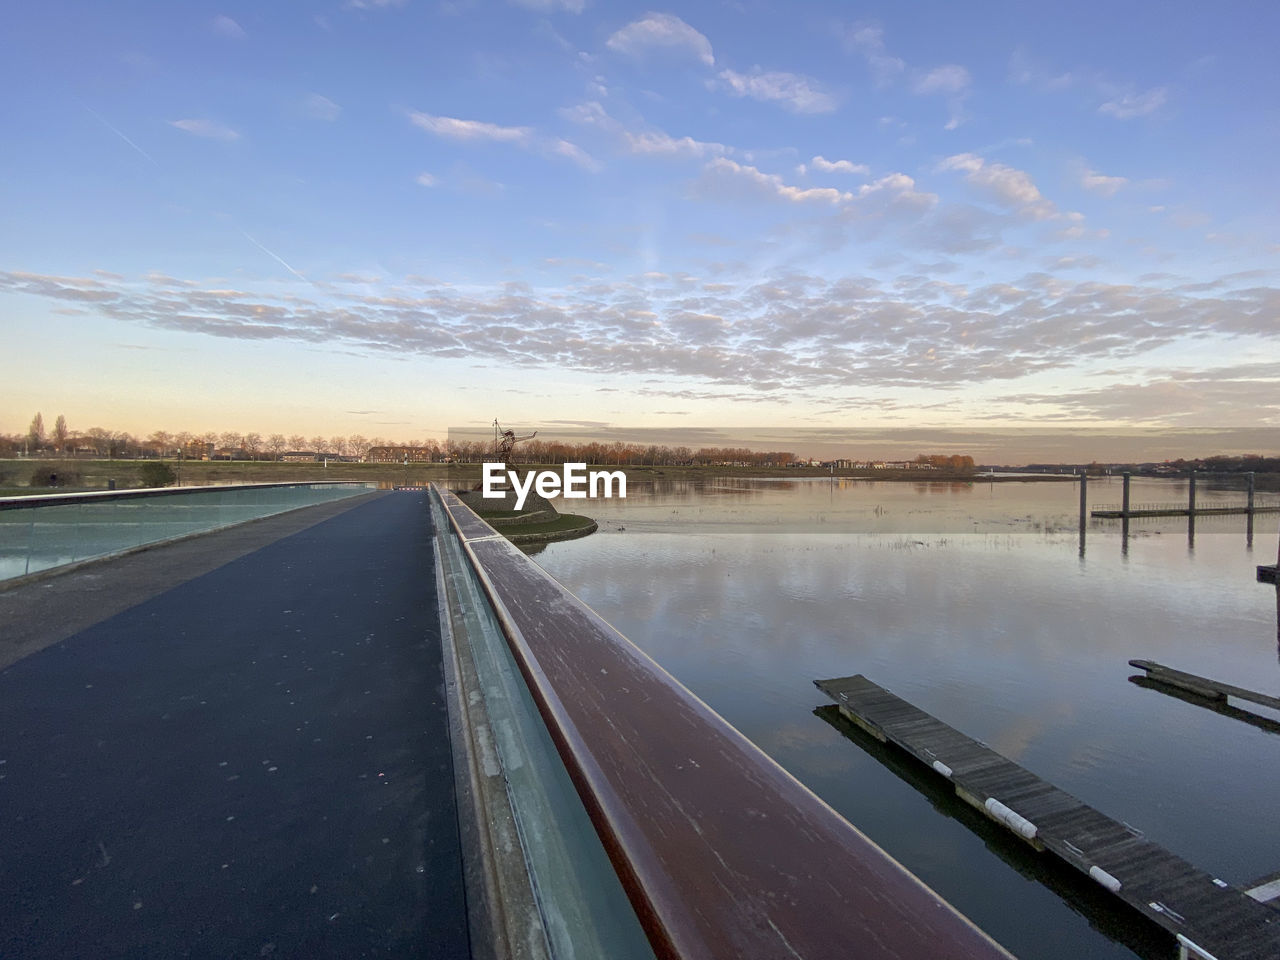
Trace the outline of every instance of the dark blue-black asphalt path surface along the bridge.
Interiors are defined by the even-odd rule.
[[[425,497],[0,672],[0,957],[468,955]]]

